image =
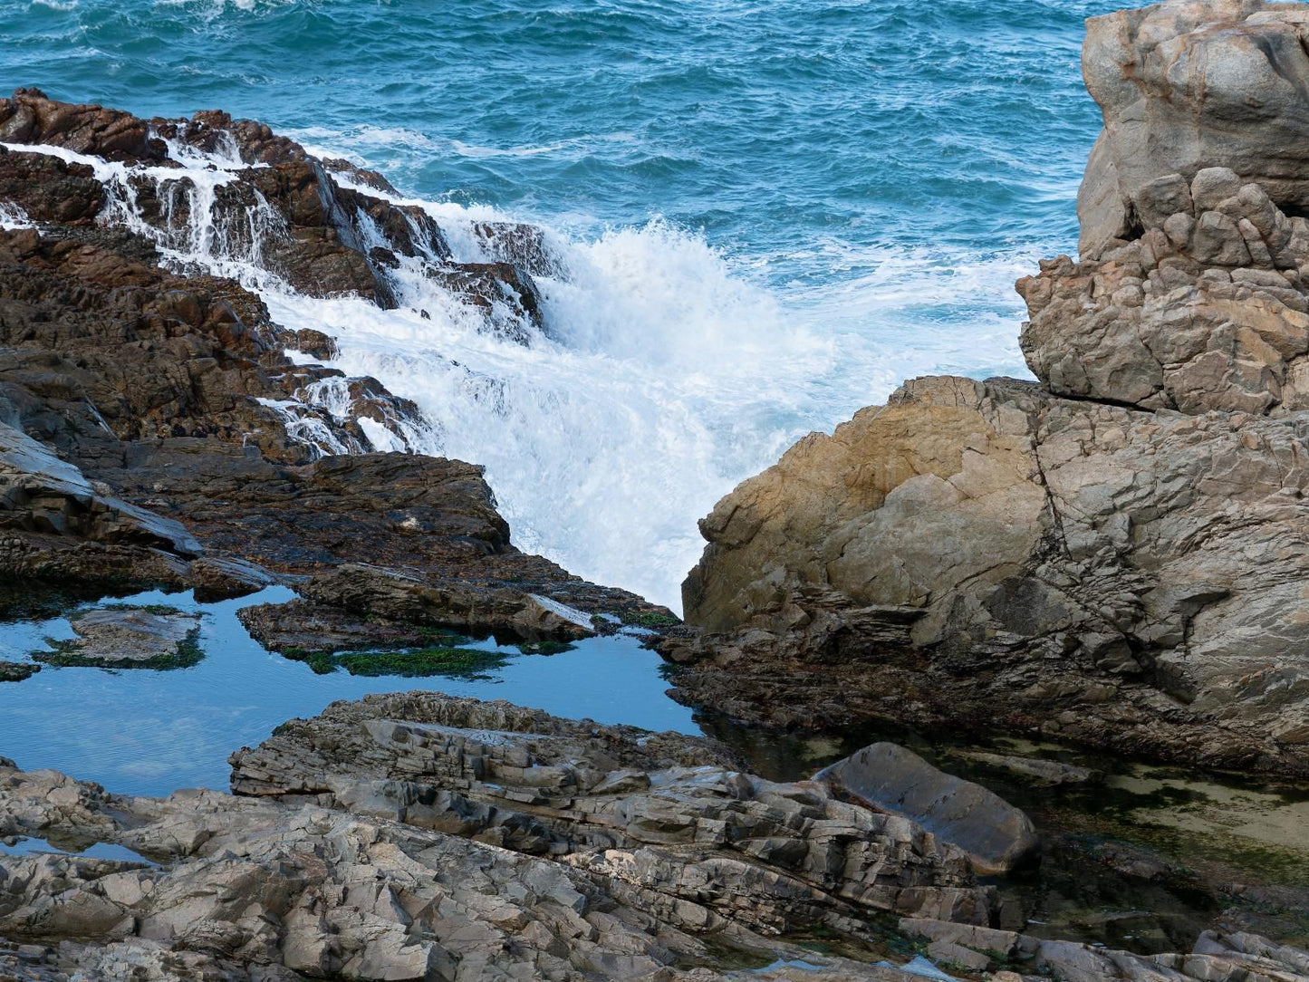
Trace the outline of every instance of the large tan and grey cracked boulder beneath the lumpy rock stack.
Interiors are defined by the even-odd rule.
[[[704,634],[664,642],[679,698],[1309,773],[1302,441],[1297,419],[908,382],[702,522]]]

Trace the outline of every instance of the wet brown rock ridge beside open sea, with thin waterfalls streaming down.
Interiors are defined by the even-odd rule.
[[[130,217],[157,246],[209,249],[308,296],[353,295],[382,308],[404,295],[395,270],[407,263],[478,310],[488,331],[528,344],[545,326],[533,270],[559,266],[539,229],[482,223],[473,238],[490,262],[459,262],[436,220],[402,203],[381,174],[319,160],[262,123],[216,110],[143,120],[18,89],[0,100],[0,141],[13,147],[0,157],[0,204],[35,223]],[[47,148],[81,156],[69,162]],[[196,178],[185,165],[198,155],[219,170]],[[102,185],[97,161],[128,169]]]

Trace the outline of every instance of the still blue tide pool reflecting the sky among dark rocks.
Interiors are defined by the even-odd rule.
[[[219,604],[161,592],[105,601],[202,611],[204,660],[170,672],[45,666],[24,682],[0,683],[0,755],[120,793],[226,790],[228,754],[264,740],[279,723],[313,716],[336,699],[414,689],[508,699],[598,723],[700,732],[691,711],[665,695],[661,660],[635,635],[594,638],[548,656],[480,642],[474,647],[499,649],[509,660],[476,678],[317,676],[266,651],[236,618],[243,606],[293,596],[276,587]],[[71,636],[64,618],[0,623],[0,661],[27,661],[31,651],[46,648],[46,638]]]

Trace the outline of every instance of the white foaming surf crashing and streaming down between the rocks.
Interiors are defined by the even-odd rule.
[[[927,257],[886,257],[898,270],[893,283],[863,284],[857,293],[797,289],[784,306],[702,236],[660,220],[592,238],[547,229],[567,276],[538,278],[548,336],[533,331],[524,347],[486,330],[486,312],[421,275],[412,259],[395,272],[394,310],[291,289],[262,264],[260,242],[280,230],[272,208],[254,208],[240,223],[215,217],[215,189],[247,166],[234,148],[207,156],[173,145],[179,169],[10,148],[90,165],[110,192],[101,221],[148,236],[171,267],[240,280],[285,327],[335,336],[339,357],[329,364],[374,376],[420,406],[431,426],[407,431],[411,445],[486,466],[520,549],[675,610],[679,583],[703,547],[695,522],[723,494],[805,432],[830,429],[882,399],[902,377],[949,367],[949,355],[928,339],[831,325],[848,325],[852,306],[867,308],[872,319],[944,292],[994,295],[1026,263],[1016,257],[933,271]],[[166,228],[139,213],[131,182],[141,179],[156,182],[160,199],[186,196],[186,208],[166,215]],[[421,207],[461,262],[491,258],[473,234],[475,223],[512,220],[350,186]],[[0,223],[25,219],[0,212]],[[1014,334],[1012,322],[997,321],[974,338],[1013,363]],[[348,411],[343,386],[329,381],[319,389],[309,394],[315,405]],[[296,406],[276,409],[296,432]],[[360,424],[377,449],[401,446],[373,420]],[[297,435],[329,452],[347,449],[325,443],[312,426]]]

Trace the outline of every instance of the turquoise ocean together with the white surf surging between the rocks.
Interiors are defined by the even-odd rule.
[[[1075,249],[1083,20],[1121,5],[5,0],[0,79],[224,109],[450,229],[545,227],[568,275],[530,347],[453,297],[226,271],[486,465],[517,546],[679,609],[696,520],[797,437],[906,377],[1028,374],[1013,280]]]

